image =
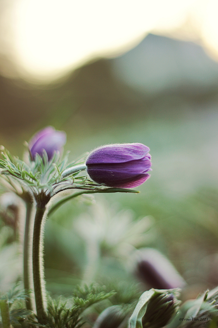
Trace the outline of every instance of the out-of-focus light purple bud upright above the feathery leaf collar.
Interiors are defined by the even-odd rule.
[[[66,143],[66,133],[56,131],[53,127],[48,126],[36,133],[29,142],[29,151],[32,158],[36,154],[42,156],[43,150],[48,155],[48,160],[52,158],[55,152],[61,152]]]

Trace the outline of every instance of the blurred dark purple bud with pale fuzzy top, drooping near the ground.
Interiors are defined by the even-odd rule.
[[[140,250],[137,253],[136,266],[137,276],[149,287],[172,289],[186,285],[173,264],[155,249]]]

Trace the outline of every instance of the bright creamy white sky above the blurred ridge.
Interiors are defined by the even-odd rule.
[[[119,55],[150,31],[198,40],[218,58],[217,12],[217,0],[17,0],[3,22],[19,75],[40,82]]]

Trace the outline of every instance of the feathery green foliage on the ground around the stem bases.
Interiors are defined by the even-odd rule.
[[[84,311],[93,304],[103,301],[115,292],[107,292],[105,286],[91,285],[90,287],[78,287],[74,294],[65,298],[48,297],[47,319],[45,324],[39,324],[37,316],[25,309],[25,293],[20,285],[0,299],[7,302],[10,325],[14,328],[80,328],[86,321]],[[2,316],[3,317],[3,316]],[[5,328],[0,320],[0,327]]]

